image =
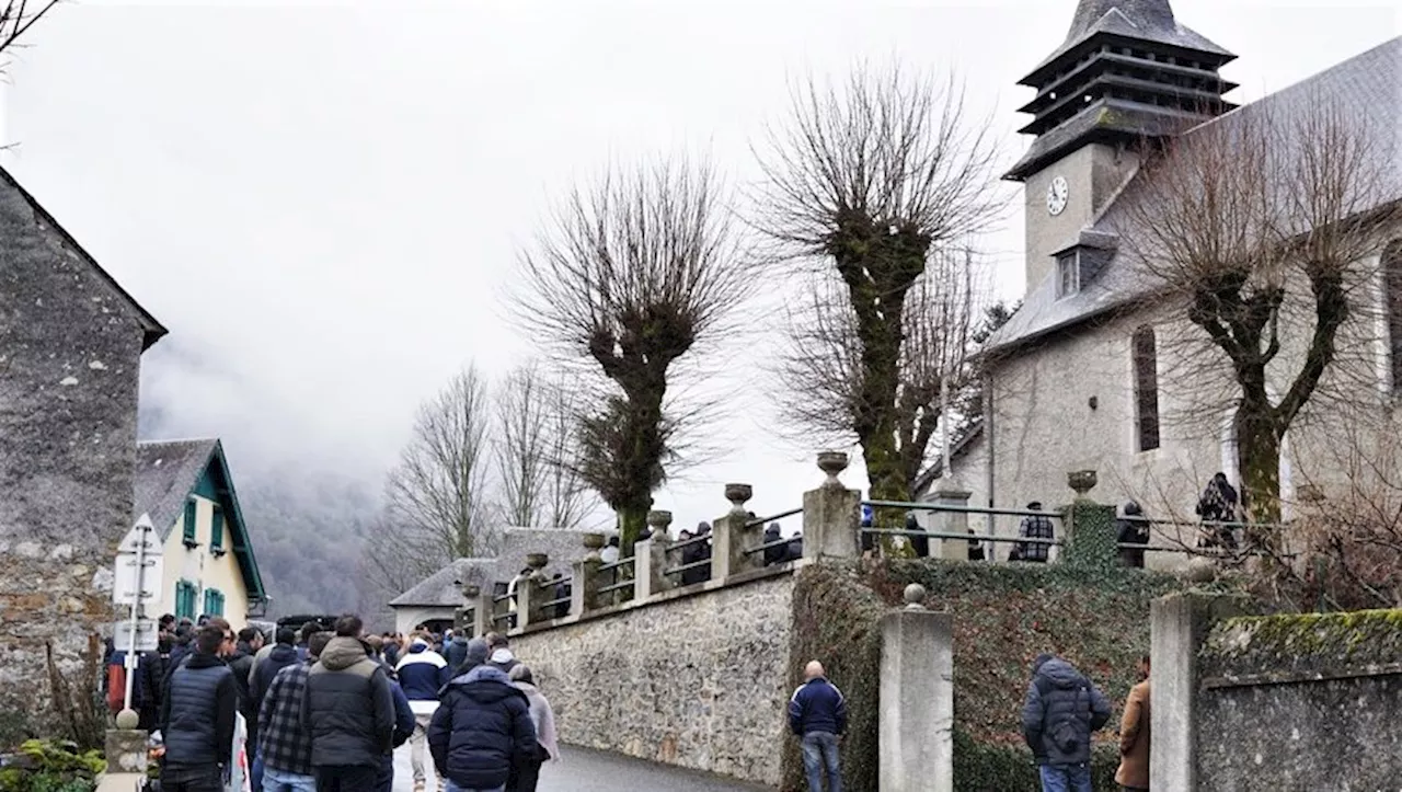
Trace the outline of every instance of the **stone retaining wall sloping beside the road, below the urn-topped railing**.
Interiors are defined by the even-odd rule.
[[[777,786],[794,575],[512,638],[561,740]]]

